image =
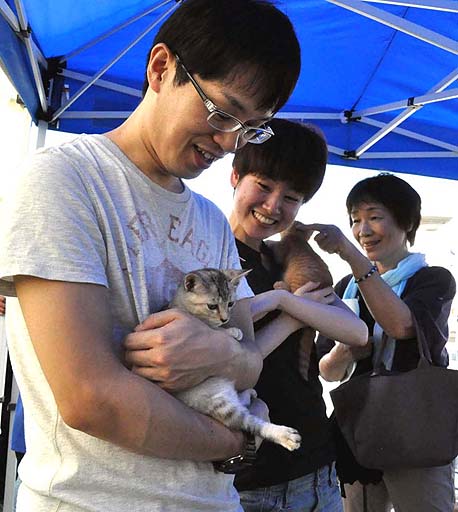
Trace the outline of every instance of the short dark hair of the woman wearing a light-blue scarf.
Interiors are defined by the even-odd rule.
[[[380,203],[393,216],[400,229],[406,232],[410,245],[421,222],[421,198],[406,181],[389,173],[381,173],[359,181],[348,194],[347,212],[350,226],[351,212],[362,203]]]

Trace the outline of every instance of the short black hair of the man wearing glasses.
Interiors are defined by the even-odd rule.
[[[200,78],[241,78],[241,86],[258,98],[259,110],[279,110],[299,76],[300,47],[293,26],[267,0],[184,0],[159,29],[153,46],[158,43],[165,43]],[[188,81],[180,67],[175,81]],[[145,79],[143,94],[147,88]]]

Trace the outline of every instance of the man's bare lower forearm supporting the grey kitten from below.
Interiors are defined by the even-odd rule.
[[[83,395],[73,410],[63,411],[64,421],[127,450],[196,461],[221,460],[240,452],[241,433],[125,369]]]

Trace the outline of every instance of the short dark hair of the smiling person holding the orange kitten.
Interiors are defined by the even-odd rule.
[[[311,124],[272,119],[274,136],[264,144],[247,144],[235,153],[233,167],[247,174],[287,183],[308,201],[323,182],[328,149],[321,131]]]

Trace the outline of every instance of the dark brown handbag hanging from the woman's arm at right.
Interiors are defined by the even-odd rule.
[[[415,318],[414,323],[417,368],[386,370],[382,348],[372,372],[331,391],[338,426],[367,468],[443,466],[458,455],[458,371],[428,361],[425,335]]]

